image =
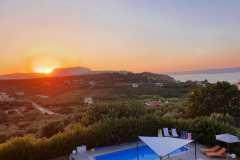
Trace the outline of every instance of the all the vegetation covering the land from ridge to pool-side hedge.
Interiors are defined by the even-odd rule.
[[[192,132],[199,143],[206,145],[215,144],[215,135],[219,133],[240,135],[237,128],[240,93],[234,85],[226,82],[205,82],[204,85],[175,83],[169,77],[159,81],[162,76],[149,73],[126,77],[115,74],[101,76],[81,80],[69,78],[67,82],[72,84],[67,83],[67,86],[64,86],[65,80],[58,79],[55,83],[52,79],[43,84],[33,80],[34,87],[49,89],[41,94],[49,91],[52,96],[47,101],[35,100],[60,113],[57,116],[40,115],[21,101],[18,106],[28,105],[24,116],[6,115],[5,109],[14,108],[15,104],[1,104],[0,141],[16,138],[0,144],[0,159],[48,160],[66,156],[82,144],[91,149],[136,141],[139,135],[156,136],[157,130],[163,127]],[[88,84],[92,80],[96,82],[94,87]],[[156,86],[158,82],[164,85]],[[26,87],[25,82],[21,83],[18,86]],[[131,83],[140,85],[133,88]],[[38,89],[34,88],[34,91]],[[83,104],[84,96],[93,97],[96,103]],[[145,102],[152,100],[161,101],[161,105],[145,106]],[[17,129],[14,128],[12,136],[7,136],[4,126],[12,126],[12,123]],[[25,130],[16,134],[19,128]]]

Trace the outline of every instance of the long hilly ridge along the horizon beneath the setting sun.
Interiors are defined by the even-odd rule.
[[[35,78],[51,78],[51,77],[74,77],[74,76],[90,76],[96,79],[122,79],[129,82],[166,82],[174,83],[175,79],[163,74],[155,74],[150,72],[132,73],[128,71],[94,71],[84,67],[58,68],[50,75],[37,73],[17,73],[0,76],[0,80],[18,80],[18,79],[35,79]]]

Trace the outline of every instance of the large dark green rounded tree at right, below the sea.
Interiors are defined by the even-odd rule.
[[[189,93],[188,105],[191,116],[209,116],[212,113],[236,116],[240,111],[240,92],[228,82],[198,86]]]

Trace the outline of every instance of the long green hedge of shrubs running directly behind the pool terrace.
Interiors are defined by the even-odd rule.
[[[88,148],[114,145],[138,140],[139,135],[156,136],[159,128],[177,128],[201,136],[203,144],[215,143],[215,134],[235,130],[207,117],[197,119],[163,119],[154,114],[142,117],[107,118],[91,126],[75,124],[51,138],[35,139],[31,136],[15,138],[0,145],[0,159],[47,160],[68,155],[76,146]]]

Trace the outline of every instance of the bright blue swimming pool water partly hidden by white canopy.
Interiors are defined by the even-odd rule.
[[[189,149],[187,147],[182,147],[172,152],[170,156],[175,156],[188,150]],[[138,148],[138,150],[137,147],[135,147],[118,152],[96,156],[95,160],[137,160],[137,155],[139,156],[139,160],[159,160],[159,157],[148,146],[141,146]]]

